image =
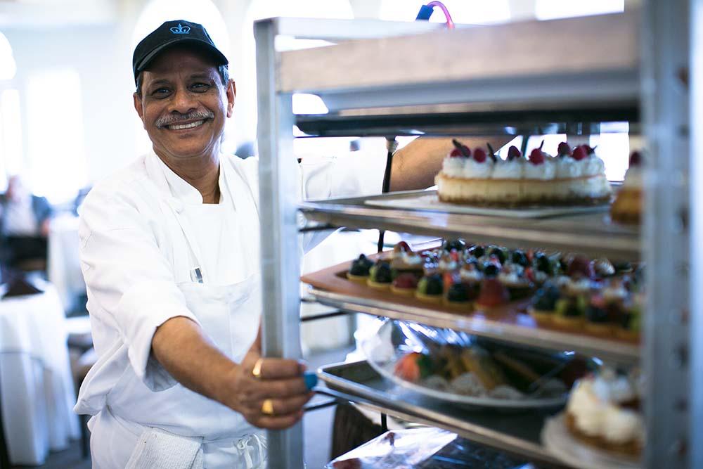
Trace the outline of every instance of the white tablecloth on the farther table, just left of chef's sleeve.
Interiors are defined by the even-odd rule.
[[[65,214],[51,220],[47,274],[56,286],[66,311],[74,309],[77,296],[86,291],[78,257],[78,217]]]

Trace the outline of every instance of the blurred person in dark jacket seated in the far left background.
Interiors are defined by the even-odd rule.
[[[46,269],[46,238],[53,209],[44,197],[32,195],[20,176],[8,179],[0,195],[0,262],[29,270]]]

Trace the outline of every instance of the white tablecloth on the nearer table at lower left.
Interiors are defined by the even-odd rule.
[[[0,301],[0,406],[13,464],[42,464],[79,437],[63,307],[52,285],[41,288]]]

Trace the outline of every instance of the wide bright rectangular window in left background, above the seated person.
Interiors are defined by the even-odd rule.
[[[30,76],[27,130],[32,190],[51,203],[75,198],[86,185],[81,82],[77,70],[55,68]]]

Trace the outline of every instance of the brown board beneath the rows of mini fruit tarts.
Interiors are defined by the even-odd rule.
[[[376,259],[378,256],[379,255],[370,255],[368,258]],[[639,340],[637,339],[625,339],[618,338],[614,335],[593,333],[585,330],[583,327],[574,329],[559,326],[557,324],[538,324],[532,316],[527,314],[527,306],[530,302],[529,299],[511,302],[501,307],[491,308],[490,310],[482,310],[472,307],[472,304],[470,303],[461,306],[446,305],[443,303],[430,303],[424,302],[423,300],[418,300],[418,298],[415,298],[414,296],[408,297],[404,295],[397,295],[390,290],[375,290],[374,288],[370,288],[369,286],[361,283],[356,283],[347,278],[346,274],[350,264],[351,261],[343,262],[342,264],[337,264],[328,267],[327,269],[306,274],[301,277],[301,280],[304,283],[308,283],[309,285],[312,285],[320,290],[326,290],[332,293],[338,293],[340,295],[358,297],[376,302],[390,302],[393,303],[394,306],[403,305],[406,307],[426,309],[427,311],[432,312],[441,311],[447,314],[464,316],[467,319],[467,323],[470,322],[472,325],[477,327],[480,327],[479,322],[483,321],[486,326],[490,323],[491,326],[517,326],[520,328],[530,328],[535,332],[538,330],[554,331],[557,333],[578,335],[579,337],[593,337],[627,345],[637,345],[639,343]]]

